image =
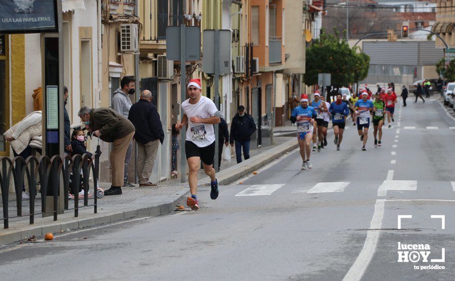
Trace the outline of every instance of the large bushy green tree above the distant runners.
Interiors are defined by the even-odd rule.
[[[330,73],[332,85],[348,86],[368,76],[370,57],[357,53],[357,48],[350,48],[344,39],[338,39],[338,33],[324,33],[306,49],[305,84],[317,84],[317,74]]]

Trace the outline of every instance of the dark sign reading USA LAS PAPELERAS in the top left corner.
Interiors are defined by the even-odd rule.
[[[57,32],[57,0],[1,0],[0,33]]]

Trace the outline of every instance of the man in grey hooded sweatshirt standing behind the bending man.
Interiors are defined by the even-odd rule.
[[[112,98],[112,109],[117,111],[118,113],[122,114],[125,118],[128,118],[129,109],[132,106],[131,100],[129,99],[128,95],[134,95],[134,80],[131,76],[124,76],[120,81],[120,88],[118,88],[114,92],[114,96]],[[131,184],[128,180],[128,164],[131,161],[131,150],[133,147],[133,142],[131,140],[128,150],[126,151],[125,157],[125,170],[124,170],[124,177],[123,177],[123,186],[134,187],[134,184]]]

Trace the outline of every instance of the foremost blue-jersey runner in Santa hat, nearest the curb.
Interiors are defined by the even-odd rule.
[[[313,168],[310,163],[310,155],[313,124],[315,123],[316,115],[314,108],[308,106],[308,96],[303,93],[300,96],[300,106],[294,108],[290,118],[292,124],[297,122],[297,140],[303,161],[302,170]]]

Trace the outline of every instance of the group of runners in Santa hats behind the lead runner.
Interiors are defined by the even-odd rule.
[[[300,97],[300,106],[295,107],[292,111],[290,121],[297,124],[297,139],[302,156],[302,170],[311,169],[313,165],[310,162],[311,151],[320,152],[327,146],[327,129],[329,121],[332,121],[334,132],[334,144],[336,150],[340,150],[340,144],[343,140],[348,116],[353,120],[353,126],[357,126],[357,132],[362,142],[361,150],[365,151],[368,130],[370,123],[373,123],[374,147],[382,146],[382,126],[385,122],[385,116],[389,128],[392,127],[394,120],[395,104],[397,96],[392,88],[385,90],[382,88],[375,95],[365,88],[359,90],[359,96],[353,93],[352,97],[347,99],[346,95],[338,93],[334,102],[325,101],[324,96],[319,92],[314,93],[314,100],[311,103],[306,94]],[[311,149],[311,143],[313,148]]]

